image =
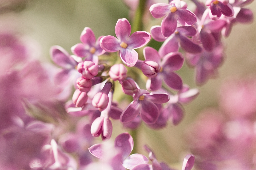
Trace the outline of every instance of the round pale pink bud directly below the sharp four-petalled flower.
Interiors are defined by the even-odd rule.
[[[110,68],[109,76],[114,81],[116,80],[123,81],[127,77],[126,73],[127,73],[127,69],[123,64],[115,64]]]

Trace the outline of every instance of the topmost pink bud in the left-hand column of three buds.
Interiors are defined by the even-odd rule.
[[[92,61],[85,61],[77,65],[77,70],[82,74],[83,78],[92,79],[98,74],[98,66]]]

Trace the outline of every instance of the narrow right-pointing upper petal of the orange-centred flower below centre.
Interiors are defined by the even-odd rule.
[[[167,93],[161,91],[151,92],[149,95],[146,95],[146,97],[153,103],[158,104],[166,103],[170,100],[170,96]]]

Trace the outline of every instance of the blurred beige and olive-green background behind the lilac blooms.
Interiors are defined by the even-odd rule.
[[[101,35],[115,36],[114,28],[119,18],[127,18],[131,22],[129,8],[122,0],[12,0],[9,3],[14,5],[3,6],[6,1],[0,0],[0,31],[12,30],[33,39],[33,45],[38,50],[36,56],[42,62],[52,62],[49,55],[52,45],[60,45],[71,54],[70,48],[80,43],[79,37],[84,27],[90,27],[97,38]],[[255,3],[247,8],[256,13]],[[151,26],[161,22],[153,17],[151,19],[153,22],[148,22],[144,31],[150,32]],[[185,106],[185,118],[178,126],[169,122],[164,129],[152,130],[143,124],[138,132],[139,153],[147,155],[143,150],[143,145],[147,143],[155,151],[159,161],[164,160],[170,164],[181,162],[189,153],[189,141],[184,138],[186,129],[201,111],[218,108],[219,88],[223,80],[234,76],[256,77],[256,22],[237,24],[230,36],[222,39],[226,57],[219,69],[219,77],[197,87],[194,69],[184,64],[178,73],[184,83],[191,88],[199,88],[200,95]],[[112,139],[121,131],[127,131],[120,130],[122,125],[119,121],[113,121],[113,126]]]

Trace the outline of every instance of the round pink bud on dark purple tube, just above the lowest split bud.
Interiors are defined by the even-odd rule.
[[[99,111],[103,111],[107,108],[107,104],[109,103],[109,97],[107,94],[98,92],[94,95],[92,104],[94,107],[98,108]]]

